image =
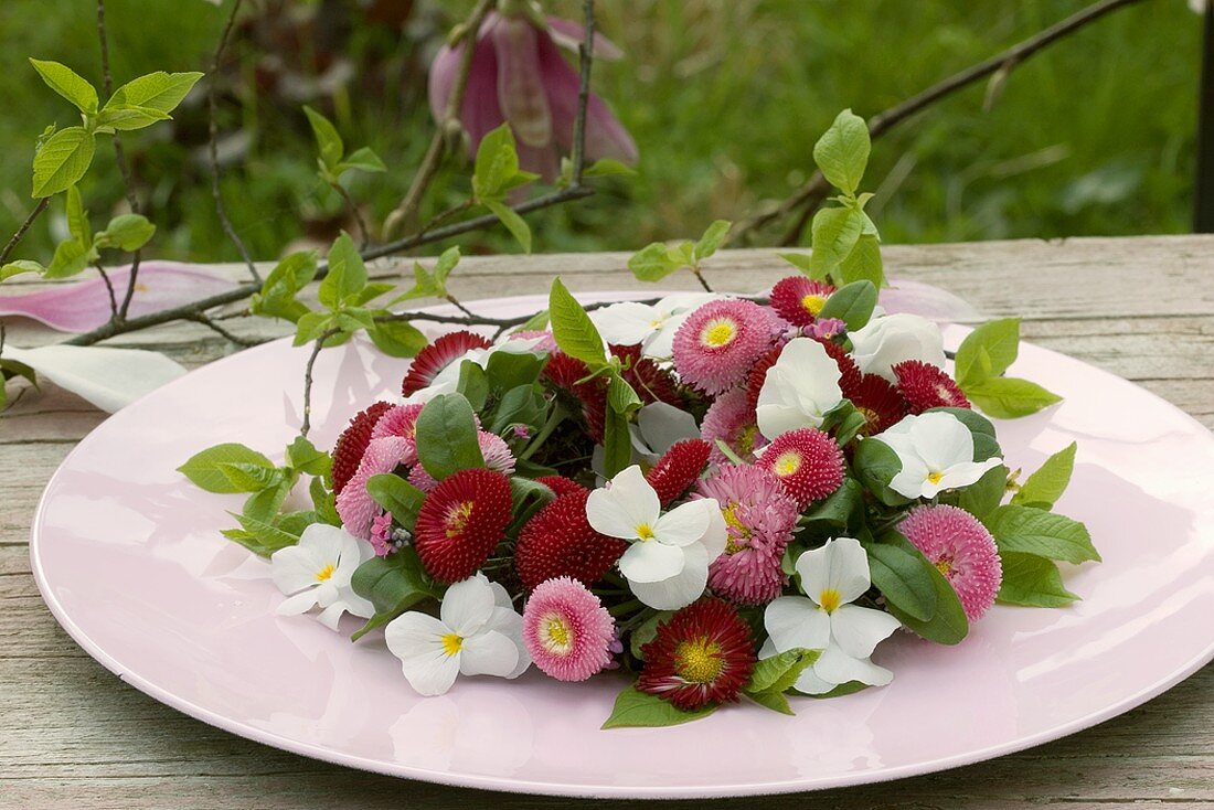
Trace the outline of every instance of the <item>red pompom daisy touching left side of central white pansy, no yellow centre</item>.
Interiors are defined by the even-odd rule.
[[[571,492],[527,521],[515,544],[515,571],[528,590],[545,579],[573,577],[592,585],[607,573],[628,543],[600,534],[586,519],[590,492]]]

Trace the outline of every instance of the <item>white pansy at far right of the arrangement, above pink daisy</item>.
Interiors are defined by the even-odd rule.
[[[935,498],[944,489],[975,483],[1000,458],[974,460],[974,435],[960,419],[943,410],[907,417],[872,440],[887,446],[902,461],[890,488],[906,498]]]

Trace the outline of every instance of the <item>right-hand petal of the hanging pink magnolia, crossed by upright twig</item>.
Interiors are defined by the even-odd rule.
[[[578,73],[561,56],[550,38],[539,39],[540,70],[552,111],[552,134],[565,149],[573,147],[573,121],[578,117]],[[636,143],[603,100],[590,94],[586,101],[586,159],[614,158],[635,164]]]

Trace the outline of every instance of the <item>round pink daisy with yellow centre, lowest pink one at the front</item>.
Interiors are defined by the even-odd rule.
[[[586,680],[611,663],[615,622],[599,597],[572,577],[540,583],[523,608],[523,644],[556,680]]]

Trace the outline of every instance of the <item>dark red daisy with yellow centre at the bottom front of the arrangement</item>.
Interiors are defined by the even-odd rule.
[[[636,689],[691,712],[738,699],[755,665],[750,627],[720,599],[700,599],[658,625]]]

